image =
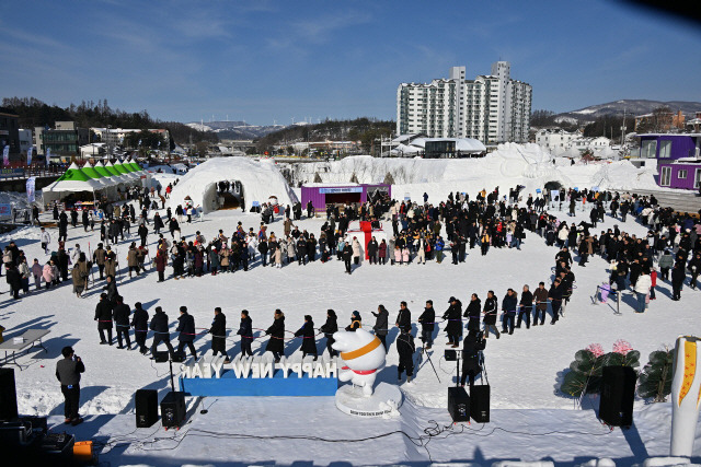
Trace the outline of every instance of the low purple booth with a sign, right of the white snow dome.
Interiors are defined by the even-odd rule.
[[[302,209],[311,201],[317,212],[326,212],[326,205],[365,202],[378,190],[392,196],[392,186],[386,184],[307,184],[302,185]]]

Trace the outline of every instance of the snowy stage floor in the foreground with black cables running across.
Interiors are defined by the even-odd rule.
[[[588,407],[501,409],[490,423],[458,424],[430,439],[425,429],[451,425],[445,409],[404,402],[400,412],[366,420],[337,410],[333,397],[207,397],[193,399],[180,431],[164,431],[160,422],[135,431],[131,415],[89,417],[72,430],[77,439],[105,443],[100,460],[112,466],[490,466],[517,459],[568,466],[593,458],[627,466],[666,456],[669,448],[669,404],[636,409],[635,425],[624,431],[609,431]],[[51,422],[62,430],[59,417]],[[367,440],[348,441],[360,439]]]

